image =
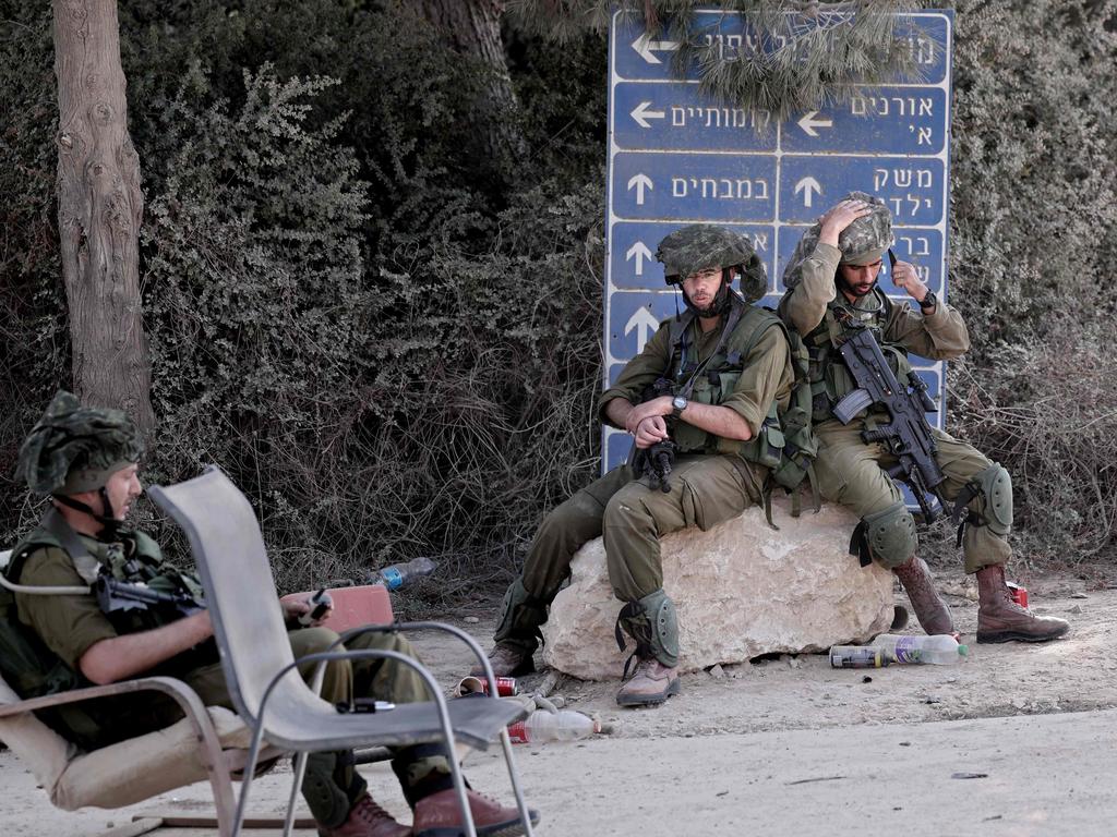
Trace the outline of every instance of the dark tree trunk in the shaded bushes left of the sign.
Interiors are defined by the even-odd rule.
[[[488,66],[490,76],[477,103],[476,129],[481,152],[507,177],[526,153],[518,125],[519,103],[500,40],[503,0],[420,0],[422,13],[461,55]]]

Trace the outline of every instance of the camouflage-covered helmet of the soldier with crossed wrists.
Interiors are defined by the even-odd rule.
[[[668,285],[708,268],[741,268],[741,294],[755,302],[767,291],[764,262],[745,235],[724,227],[689,224],[680,227],[659,242],[656,258],[663,263]]]

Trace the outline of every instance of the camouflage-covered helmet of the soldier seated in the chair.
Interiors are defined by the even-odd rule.
[[[125,413],[83,407],[59,389],[23,440],[16,475],[41,494],[77,494],[104,488],[142,455],[143,441]]]

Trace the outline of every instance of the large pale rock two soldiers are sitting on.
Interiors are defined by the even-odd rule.
[[[794,519],[786,499],[774,498],[773,519],[780,531],[754,508],[709,531],[662,539],[663,588],[678,608],[682,671],[867,642],[888,628],[892,574],[876,564],[861,568],[849,554],[857,518],[824,504]],[[571,569],[570,586],[543,626],[543,660],[583,680],[617,679],[629,652],[613,637],[621,603],[609,586],[600,538],[579,550]]]

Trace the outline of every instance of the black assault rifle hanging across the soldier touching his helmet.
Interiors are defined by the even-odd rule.
[[[946,506],[939,489],[946,477],[935,461],[938,445],[927,424],[926,413],[938,410],[927,395],[927,385],[914,372],[908,372],[908,383],[901,385],[868,328],[858,329],[839,350],[858,388],[834,405],[834,416],[842,424],[849,424],[853,416],[872,405],[888,411],[891,421],[866,430],[861,437],[888,446],[898,460],[888,469],[888,475],[907,483],[924,520],[932,522]]]

